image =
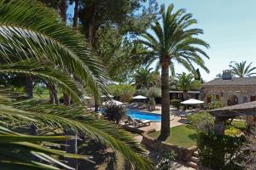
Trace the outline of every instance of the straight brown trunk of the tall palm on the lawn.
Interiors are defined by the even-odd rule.
[[[161,62],[161,129],[158,139],[165,140],[170,136],[170,94],[169,94],[170,58]]]

